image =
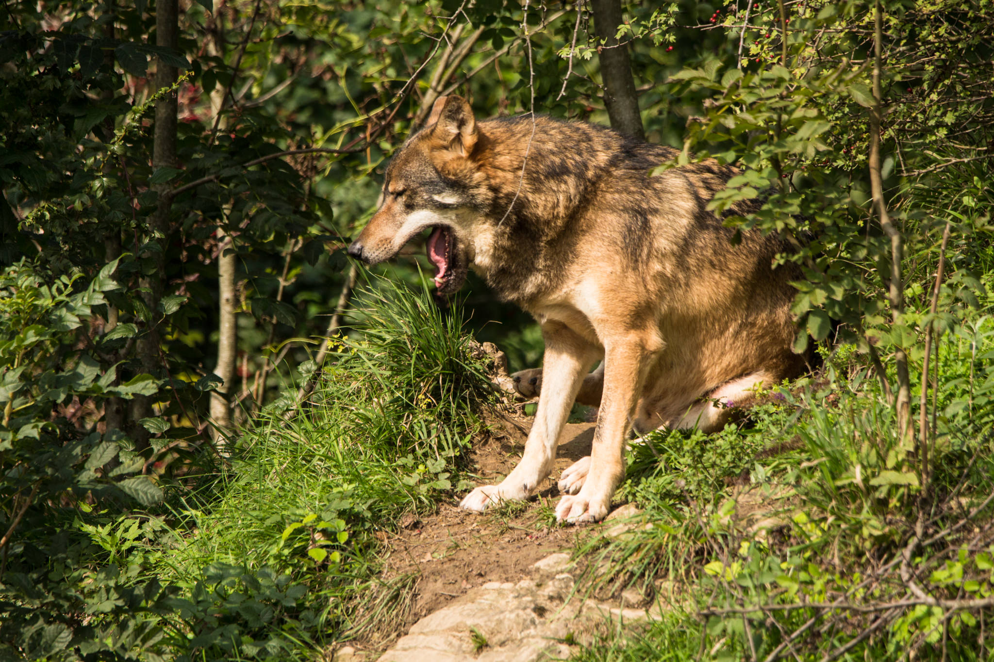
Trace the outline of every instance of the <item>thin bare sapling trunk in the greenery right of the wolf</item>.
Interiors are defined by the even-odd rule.
[[[874,8],[874,67],[873,95],[874,104],[870,109],[870,189],[873,203],[880,218],[881,229],[891,240],[891,273],[888,298],[891,304],[892,324],[901,323],[905,315],[905,289],[901,273],[901,262],[904,257],[904,238],[901,230],[891,220],[887,210],[887,200],[884,199],[884,180],[881,175],[881,123],[884,116],[883,91],[881,76],[883,75],[883,10],[880,0]],[[908,351],[901,345],[894,349],[895,367],[898,372],[898,393],[896,406],[898,410],[898,430],[902,439],[911,436],[911,377],[908,372]]]

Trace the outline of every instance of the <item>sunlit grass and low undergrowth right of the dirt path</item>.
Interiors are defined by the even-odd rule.
[[[994,637],[994,320],[947,333],[921,476],[873,368],[845,347],[722,433],[633,444],[641,512],[594,537],[583,587],[635,588],[662,620],[582,660],[985,659]],[[912,393],[912,401],[917,394]],[[926,485],[926,489],[923,489]]]

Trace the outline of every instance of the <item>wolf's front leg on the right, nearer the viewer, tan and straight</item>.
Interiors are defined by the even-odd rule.
[[[559,521],[597,522],[607,515],[611,496],[624,477],[625,435],[648,365],[661,344],[653,333],[619,335],[605,342],[603,397],[589,463],[582,467],[586,476],[580,490],[564,495],[556,506]],[[580,468],[580,463],[570,469]]]

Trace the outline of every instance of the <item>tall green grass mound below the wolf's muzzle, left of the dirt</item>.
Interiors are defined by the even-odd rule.
[[[311,658],[375,643],[410,609],[413,578],[380,579],[375,534],[465,488],[462,454],[491,391],[457,307],[386,282],[359,306],[361,332],[335,338],[311,403],[263,412],[230,468],[174,492],[169,527],[145,544],[143,572],[210,614],[173,623],[195,637],[177,637],[187,654]]]

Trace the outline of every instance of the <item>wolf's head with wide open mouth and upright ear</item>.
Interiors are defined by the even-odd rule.
[[[486,209],[486,188],[473,163],[479,138],[465,99],[439,97],[425,127],[387,167],[380,208],[349,255],[377,264],[430,228],[427,254],[437,269],[435,286],[439,295],[454,294],[466,279],[474,226]]]

